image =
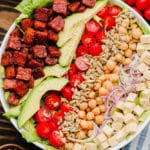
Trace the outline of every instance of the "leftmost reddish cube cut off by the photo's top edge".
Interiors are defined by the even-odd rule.
[[[54,0],[53,1],[53,11],[66,16],[67,14],[67,0]]]

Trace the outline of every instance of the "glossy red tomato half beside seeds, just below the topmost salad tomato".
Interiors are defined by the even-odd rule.
[[[104,25],[104,28],[106,30],[110,30],[113,28],[113,26],[115,26],[115,18],[113,18],[112,16],[108,15],[105,17],[104,19],[104,22],[103,22],[103,25]]]

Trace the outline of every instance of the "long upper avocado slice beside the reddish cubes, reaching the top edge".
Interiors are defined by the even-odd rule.
[[[73,28],[78,26],[81,22],[86,23],[92,17],[97,14],[106,4],[108,0],[97,1],[93,8],[87,8],[82,13],[73,14],[65,19],[65,26],[63,31],[58,34],[57,46],[62,47],[67,41],[69,41],[73,36]]]

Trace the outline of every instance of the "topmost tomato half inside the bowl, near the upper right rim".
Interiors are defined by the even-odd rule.
[[[120,12],[122,11],[122,8],[119,6],[111,6],[109,7],[109,15],[110,16],[118,16],[120,14]]]

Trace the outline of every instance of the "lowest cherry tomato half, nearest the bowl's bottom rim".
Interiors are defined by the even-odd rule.
[[[65,144],[65,137],[63,133],[59,130],[54,130],[50,133],[49,142],[51,145],[56,147],[62,147]]]

